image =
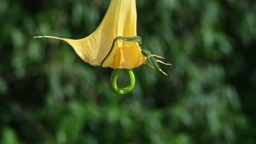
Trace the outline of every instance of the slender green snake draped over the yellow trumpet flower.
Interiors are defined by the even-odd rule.
[[[115,45],[115,42],[117,40],[137,41],[139,46],[141,46],[141,44],[142,44],[142,39],[139,36],[136,36],[136,37],[117,37],[117,38],[115,38],[113,40],[113,44],[112,44],[112,47],[111,47],[110,51],[108,52],[107,56],[101,62],[101,66],[102,66],[103,62],[106,60],[106,58],[109,56],[109,54],[112,52],[113,47]],[[156,59],[153,56],[150,56],[150,55],[152,55],[150,51],[141,50],[141,53],[144,57],[147,57],[146,64],[148,64],[150,68],[152,68],[153,70],[159,70],[160,69]],[[121,69],[119,69],[119,68],[113,69],[112,75],[110,76],[109,86],[110,86],[110,88],[112,89],[112,91],[114,93],[123,95],[123,94],[127,94],[127,93],[132,91],[133,87],[135,86],[135,76],[133,74],[132,69],[126,69],[127,75],[129,77],[129,84],[125,88],[119,88],[117,86],[117,79],[118,79],[118,75],[120,74],[120,71],[121,71]]]

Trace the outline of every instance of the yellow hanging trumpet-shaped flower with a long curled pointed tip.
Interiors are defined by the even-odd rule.
[[[66,41],[83,61],[94,66],[101,65],[104,60],[102,67],[132,69],[146,61],[138,42],[118,40],[112,51],[110,53],[109,51],[116,37],[135,37],[136,35],[136,0],[111,0],[100,26],[86,38],[78,40],[50,36],[34,38],[45,37]]]

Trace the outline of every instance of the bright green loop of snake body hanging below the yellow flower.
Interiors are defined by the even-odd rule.
[[[135,86],[135,76],[133,74],[132,69],[125,69],[129,77],[129,84],[125,88],[119,88],[117,86],[117,79],[121,70],[122,69],[117,68],[112,71],[112,75],[110,76],[109,86],[112,89],[112,91],[115,92],[116,94],[123,95],[132,91],[133,87]]]

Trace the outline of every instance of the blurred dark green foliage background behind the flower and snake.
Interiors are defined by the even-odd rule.
[[[84,38],[109,3],[0,1],[0,143],[256,143],[255,1],[137,0],[143,49],[173,66],[134,69],[125,96],[112,69],[32,39]]]

